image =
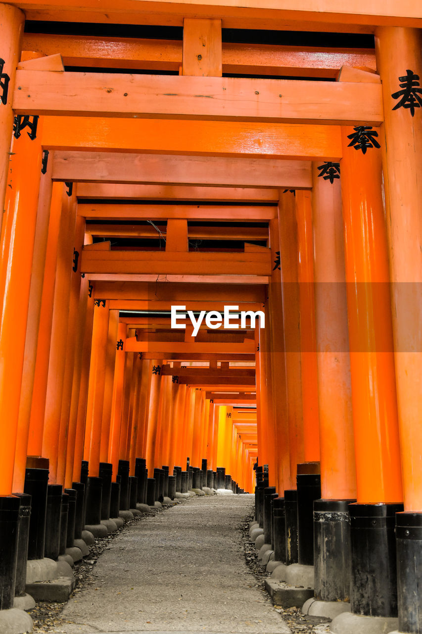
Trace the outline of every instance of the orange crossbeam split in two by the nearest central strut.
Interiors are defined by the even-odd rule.
[[[60,53],[66,66],[178,71],[182,63],[177,40],[25,33],[22,49]],[[224,73],[335,77],[343,65],[374,69],[374,51],[222,43]]]

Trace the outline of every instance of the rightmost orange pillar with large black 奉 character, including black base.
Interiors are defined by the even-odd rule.
[[[394,55],[391,54],[394,51]],[[404,513],[396,516],[399,630],[422,632],[422,34],[376,30]]]

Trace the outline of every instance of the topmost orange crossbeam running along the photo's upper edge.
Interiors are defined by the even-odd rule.
[[[182,26],[183,18],[221,18],[224,28],[361,30],[372,32],[376,25],[418,27],[422,23],[419,4],[412,0],[245,0],[236,5],[227,0],[201,0],[181,4],[180,0],[9,0],[25,11],[27,20],[105,22]],[[241,6],[240,6],[241,5]]]

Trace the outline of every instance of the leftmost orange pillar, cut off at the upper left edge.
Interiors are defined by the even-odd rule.
[[[25,15],[15,6],[0,4],[0,209],[4,209],[14,113],[11,107]]]

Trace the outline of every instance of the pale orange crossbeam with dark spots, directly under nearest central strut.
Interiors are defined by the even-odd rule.
[[[17,70],[13,110],[27,115],[379,126],[381,86],[238,77]]]

